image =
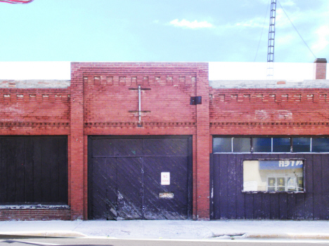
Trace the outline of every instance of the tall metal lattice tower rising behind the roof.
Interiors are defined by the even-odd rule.
[[[271,0],[269,43],[267,48],[267,79],[273,79],[274,38],[276,36],[276,0]]]

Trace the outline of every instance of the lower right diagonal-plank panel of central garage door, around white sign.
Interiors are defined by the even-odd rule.
[[[146,219],[187,219],[187,157],[146,157],[143,160]],[[161,172],[170,173],[169,185],[161,184]],[[174,198],[160,198],[160,193],[173,193]]]

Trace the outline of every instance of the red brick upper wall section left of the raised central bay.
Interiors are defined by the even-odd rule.
[[[1,135],[67,135],[67,89],[0,89]]]

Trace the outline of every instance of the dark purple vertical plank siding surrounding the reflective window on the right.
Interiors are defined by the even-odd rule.
[[[303,160],[305,191],[243,192],[243,160],[259,159]],[[211,161],[211,219],[329,219],[327,154],[213,153]]]

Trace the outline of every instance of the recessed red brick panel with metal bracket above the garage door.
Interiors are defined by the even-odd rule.
[[[166,71],[162,67],[84,73],[85,123],[136,123],[138,121],[138,88],[141,85],[142,121],[153,123],[193,123],[196,74]],[[156,73],[155,73],[156,71]],[[179,111],[177,111],[179,109]]]

